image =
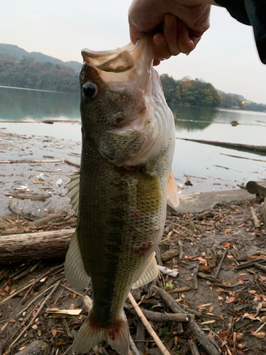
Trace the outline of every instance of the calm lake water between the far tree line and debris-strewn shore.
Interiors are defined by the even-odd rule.
[[[180,187],[186,175],[193,184],[183,193],[230,190],[249,180],[266,179],[266,155],[179,139],[265,146],[266,113],[180,106],[171,109],[177,138],[173,173]],[[43,119],[65,123],[40,123]],[[231,121],[238,121],[238,126],[231,126]],[[0,129],[4,128],[28,136],[80,141],[79,94],[0,87]],[[4,158],[4,153],[0,155]]]

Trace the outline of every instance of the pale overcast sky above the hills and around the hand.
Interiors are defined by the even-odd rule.
[[[163,0],[162,0],[163,1]],[[0,0],[0,43],[61,60],[82,61],[80,50],[107,50],[129,42],[130,0]],[[188,57],[157,67],[181,79],[202,78],[224,92],[266,104],[266,65],[257,55],[253,30],[215,7],[211,28]]]

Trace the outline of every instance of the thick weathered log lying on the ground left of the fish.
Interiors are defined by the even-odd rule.
[[[0,237],[0,265],[65,258],[74,228]]]

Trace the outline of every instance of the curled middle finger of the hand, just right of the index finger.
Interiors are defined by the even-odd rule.
[[[170,55],[178,55],[181,51],[177,44],[177,16],[172,13],[166,13],[164,16],[163,34],[165,35],[165,41]]]

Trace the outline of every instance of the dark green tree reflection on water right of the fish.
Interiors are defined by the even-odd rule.
[[[186,131],[206,129],[206,127],[210,126],[218,116],[218,111],[216,109],[210,109],[208,107],[170,105],[170,109],[172,109],[174,114],[176,131],[182,131],[184,129]]]

